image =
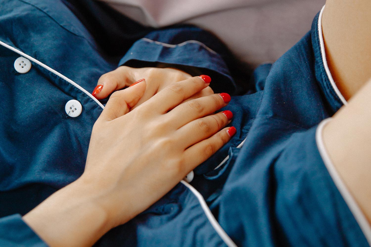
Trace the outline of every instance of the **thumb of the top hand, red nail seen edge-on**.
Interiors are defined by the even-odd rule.
[[[101,116],[110,121],[127,114],[144,95],[146,87],[147,83],[145,79],[142,79],[133,83],[127,89],[114,92],[109,98]]]

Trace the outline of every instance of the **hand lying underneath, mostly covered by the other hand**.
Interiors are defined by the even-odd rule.
[[[184,71],[171,68],[162,69],[151,67],[136,69],[127,66],[120,66],[114,71],[108,72],[99,78],[98,85],[93,90],[92,95],[98,100],[105,99],[112,92],[123,89],[124,87],[129,87],[135,83],[135,81],[142,78],[145,78],[147,82],[147,89],[136,106],[147,101],[168,85],[191,78],[191,75]],[[210,82],[210,77],[206,76],[205,78]],[[197,99],[213,93],[214,91],[210,87],[206,87],[186,100]]]

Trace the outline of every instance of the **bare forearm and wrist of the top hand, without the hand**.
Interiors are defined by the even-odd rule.
[[[52,194],[23,220],[51,247],[92,246],[111,226],[99,191],[81,179]]]

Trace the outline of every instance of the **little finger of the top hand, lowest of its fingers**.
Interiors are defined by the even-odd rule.
[[[196,166],[210,158],[216,151],[226,144],[231,137],[236,134],[236,128],[229,127],[223,128],[218,133],[200,141],[193,146],[187,148],[184,155],[184,164],[189,167],[184,167],[187,170],[193,170]]]

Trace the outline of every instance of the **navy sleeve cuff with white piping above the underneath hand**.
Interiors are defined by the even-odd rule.
[[[216,93],[236,94],[242,88],[232,79],[232,63],[228,49],[212,34],[194,26],[181,26],[148,33],[132,45],[119,66],[174,67],[192,76],[207,74]]]

